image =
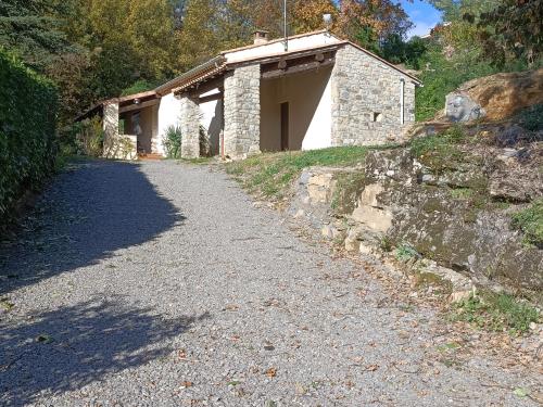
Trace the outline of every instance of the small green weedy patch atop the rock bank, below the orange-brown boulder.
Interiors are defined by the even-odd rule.
[[[435,173],[456,169],[455,163],[462,161],[464,153],[457,144],[467,140],[460,126],[454,126],[439,135],[418,137],[411,142],[411,153]]]

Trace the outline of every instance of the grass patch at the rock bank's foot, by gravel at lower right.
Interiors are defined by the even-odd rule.
[[[526,333],[531,322],[539,322],[541,314],[529,304],[508,294],[480,292],[455,305],[453,320],[470,322],[478,328],[509,331],[512,334]]]

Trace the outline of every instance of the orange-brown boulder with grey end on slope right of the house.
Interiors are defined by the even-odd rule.
[[[445,115],[452,122],[501,120],[539,103],[543,103],[543,68],[469,80],[447,94]]]

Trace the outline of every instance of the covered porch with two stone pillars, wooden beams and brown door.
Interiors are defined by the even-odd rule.
[[[174,90],[181,102],[181,155],[202,155],[202,132],[212,155],[232,160],[330,147],[337,49],[215,61],[188,73]]]

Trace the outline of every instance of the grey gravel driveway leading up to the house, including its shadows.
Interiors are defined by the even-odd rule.
[[[538,378],[431,357],[430,310],[222,173],[80,163],[37,207],[0,251],[1,405],[534,403],[512,390]]]

